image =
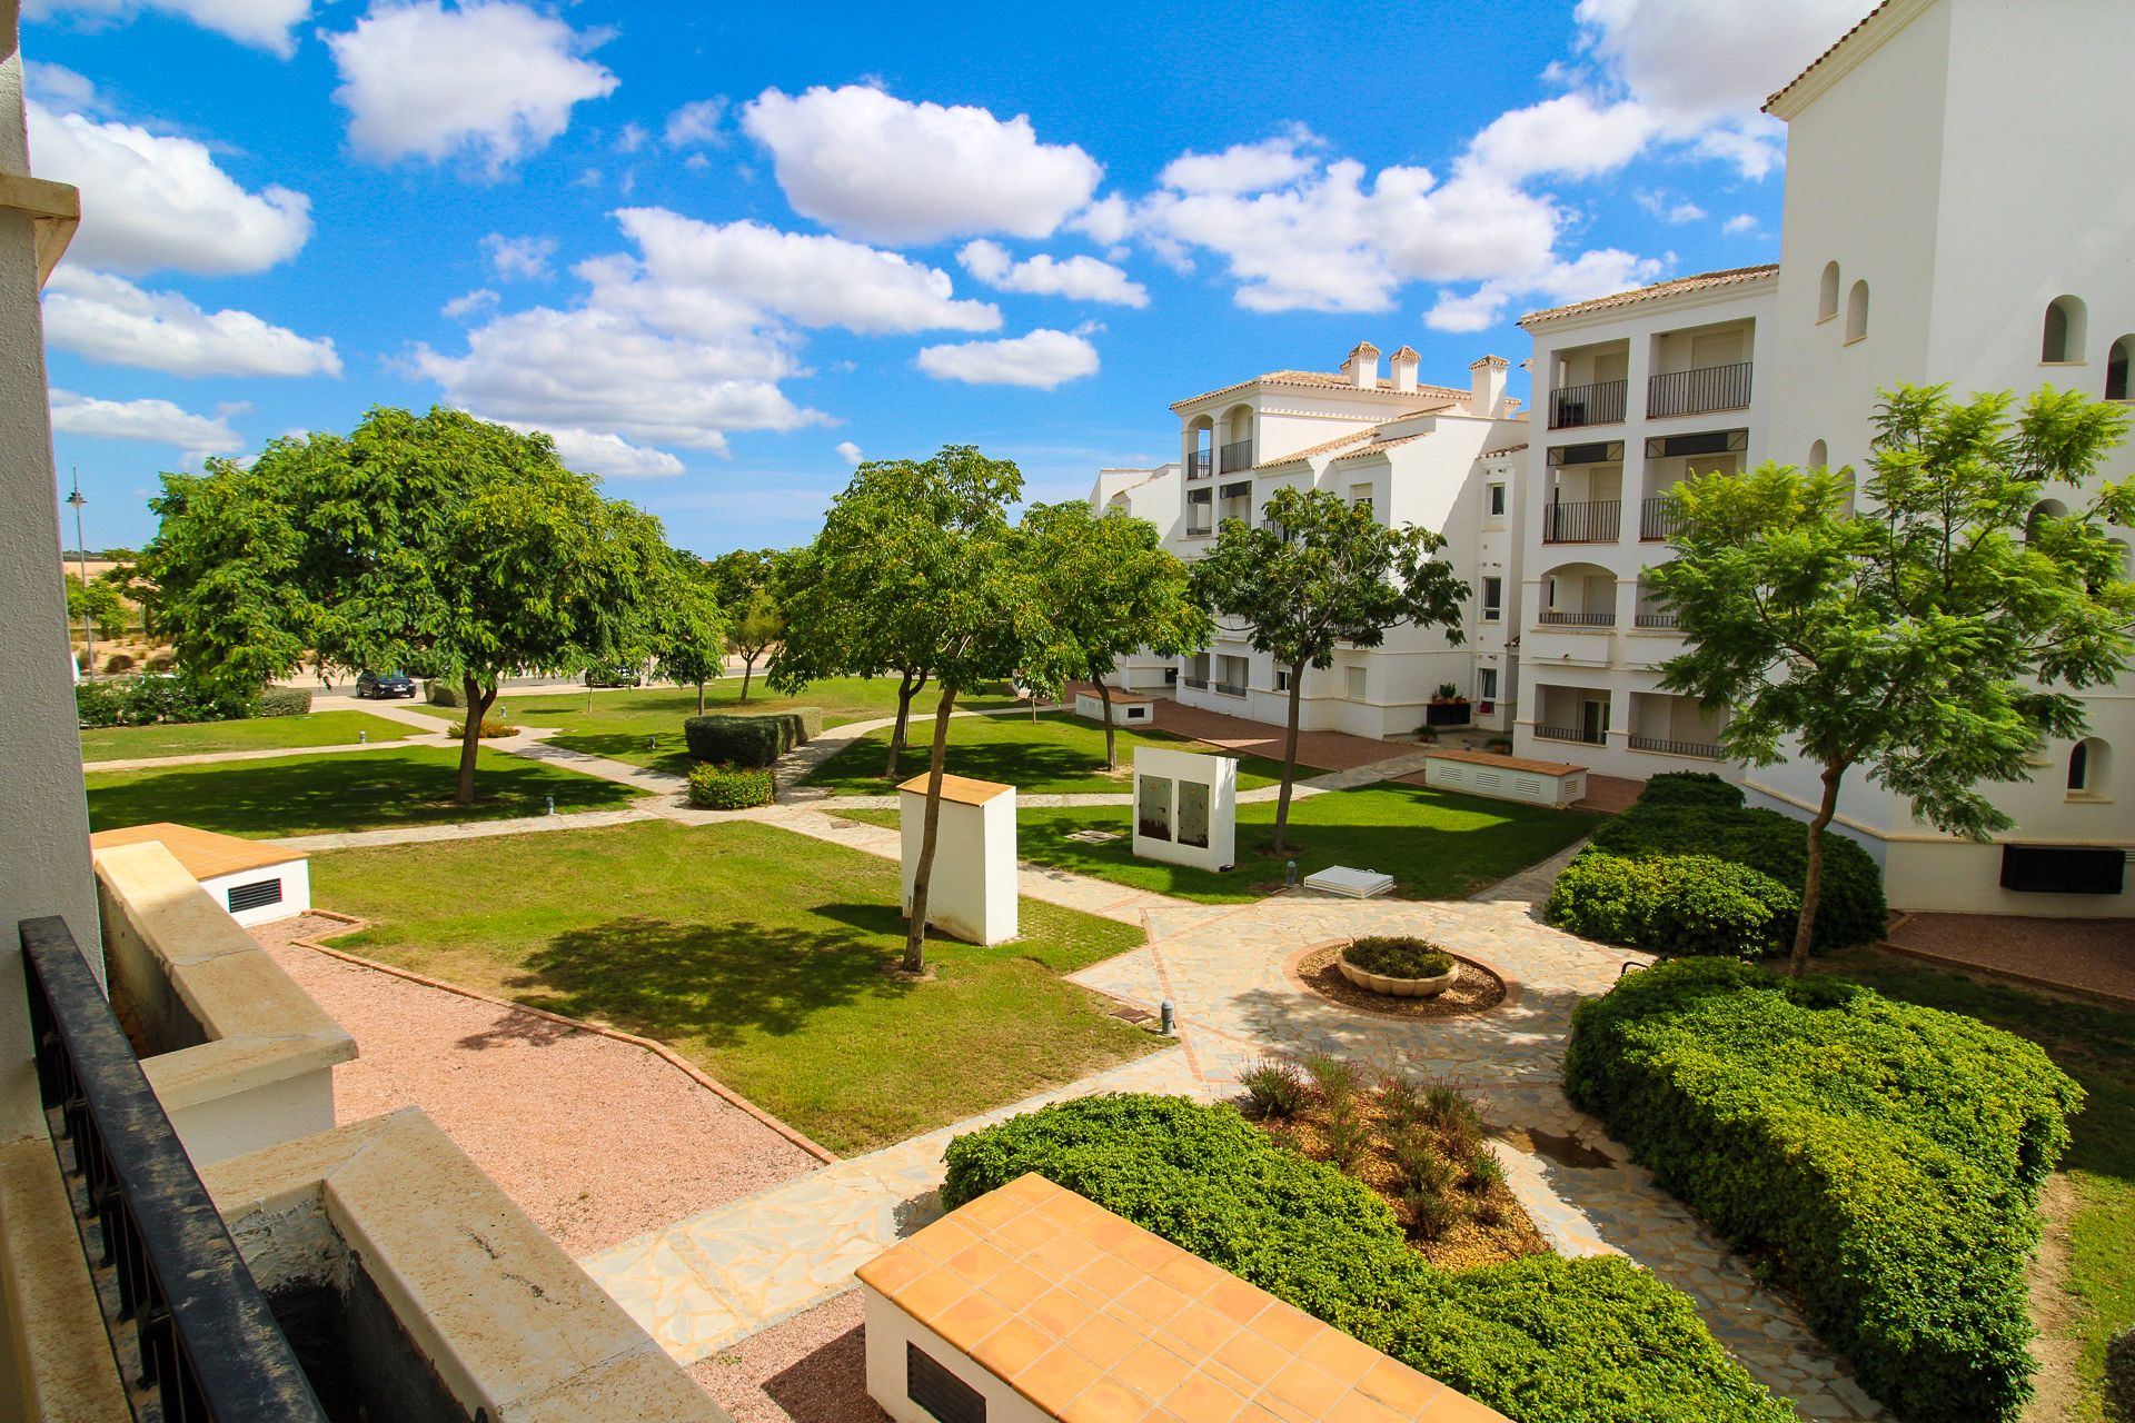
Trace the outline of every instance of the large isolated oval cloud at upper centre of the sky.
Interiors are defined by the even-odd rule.
[[[771,149],[796,213],[863,241],[1050,237],[1104,175],[1080,147],[1040,143],[1025,115],[907,102],[865,85],[764,90],[741,126]]]

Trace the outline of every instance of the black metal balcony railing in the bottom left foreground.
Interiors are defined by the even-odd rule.
[[[17,932],[45,1124],[135,1417],[325,1423],[66,922]]]

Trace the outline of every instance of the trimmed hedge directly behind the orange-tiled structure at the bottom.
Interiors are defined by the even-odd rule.
[[[1625,1259],[1445,1272],[1394,1212],[1232,1107],[1085,1097],[948,1146],[950,1210],[1027,1171],[1520,1423],[1791,1423],[1689,1297]]]

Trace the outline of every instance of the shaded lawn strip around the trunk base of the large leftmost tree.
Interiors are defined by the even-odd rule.
[[[483,751],[474,806],[455,806],[459,747],[395,747],[286,755],[263,762],[92,772],[90,828],[179,821],[201,830],[275,838],[329,830],[380,830],[463,819],[613,811],[636,798],[628,785]],[[491,841],[485,841],[485,845]]]

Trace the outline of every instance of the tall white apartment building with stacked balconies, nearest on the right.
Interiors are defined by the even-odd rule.
[[[1789,130],[1776,269],[1522,320],[1537,397],[1518,751],[1616,774],[1721,770],[1808,813],[1815,766],[1723,766],[1717,723],[1657,689],[1678,640],[1638,585],[1665,557],[1652,499],[1685,465],[1862,469],[1877,390],[1898,382],[2126,401],[2129,53],[2126,0],[1887,0],[1766,107]],[[2131,471],[2122,448],[2105,478]],[[2135,698],[2097,689],[2088,719],[2082,745],[2052,742],[2030,781],[1992,789],[2018,821],[2003,843],[1951,841],[1862,772],[1838,824],[1883,862],[1900,909],[2126,915],[2135,800],[2118,802],[2135,770],[2118,762],[2135,764]]]

